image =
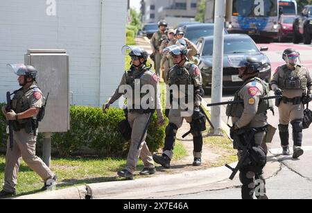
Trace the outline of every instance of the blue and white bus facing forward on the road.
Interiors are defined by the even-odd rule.
[[[233,0],[229,33],[277,39],[279,32],[279,0]]]

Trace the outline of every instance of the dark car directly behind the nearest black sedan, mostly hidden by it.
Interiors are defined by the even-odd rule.
[[[214,24],[191,24],[184,26],[184,37],[196,44],[200,37],[214,35]],[[225,31],[227,34],[227,31]]]

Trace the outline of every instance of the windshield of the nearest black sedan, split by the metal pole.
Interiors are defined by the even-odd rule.
[[[212,56],[214,42],[213,40],[207,40],[205,42],[202,56]],[[257,53],[259,49],[248,38],[225,40],[224,42],[224,54],[236,54],[236,53]]]

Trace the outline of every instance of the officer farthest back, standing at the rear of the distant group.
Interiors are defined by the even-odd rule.
[[[160,20],[158,22],[159,31],[154,33],[153,37],[150,39],[150,46],[153,50],[153,55],[155,56],[155,71],[158,77],[160,77],[160,61],[162,60],[162,54],[159,52],[160,44],[162,44],[162,38],[165,34],[166,27],[168,26],[166,20]]]

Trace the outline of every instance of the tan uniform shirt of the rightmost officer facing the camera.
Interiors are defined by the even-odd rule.
[[[291,71],[290,69],[288,69],[288,71]],[[291,71],[291,76],[295,76],[295,72],[296,69]],[[284,78],[285,76],[285,71],[283,69],[283,66],[281,67],[277,67],[277,70],[275,71],[275,74],[273,75],[273,78],[271,80],[271,87],[272,90],[275,91],[277,88],[281,89],[281,85],[279,85],[279,78]],[[301,67],[301,69],[299,70],[299,76],[300,78],[306,78],[308,80],[307,82],[307,87],[308,90],[311,90],[312,87],[312,80],[311,80],[311,76],[309,74],[309,70],[306,67]],[[295,97],[298,96],[302,96],[302,93],[304,92],[304,90],[302,89],[298,89],[298,90],[283,90],[283,96],[286,96],[286,98],[288,99],[293,99]]]

